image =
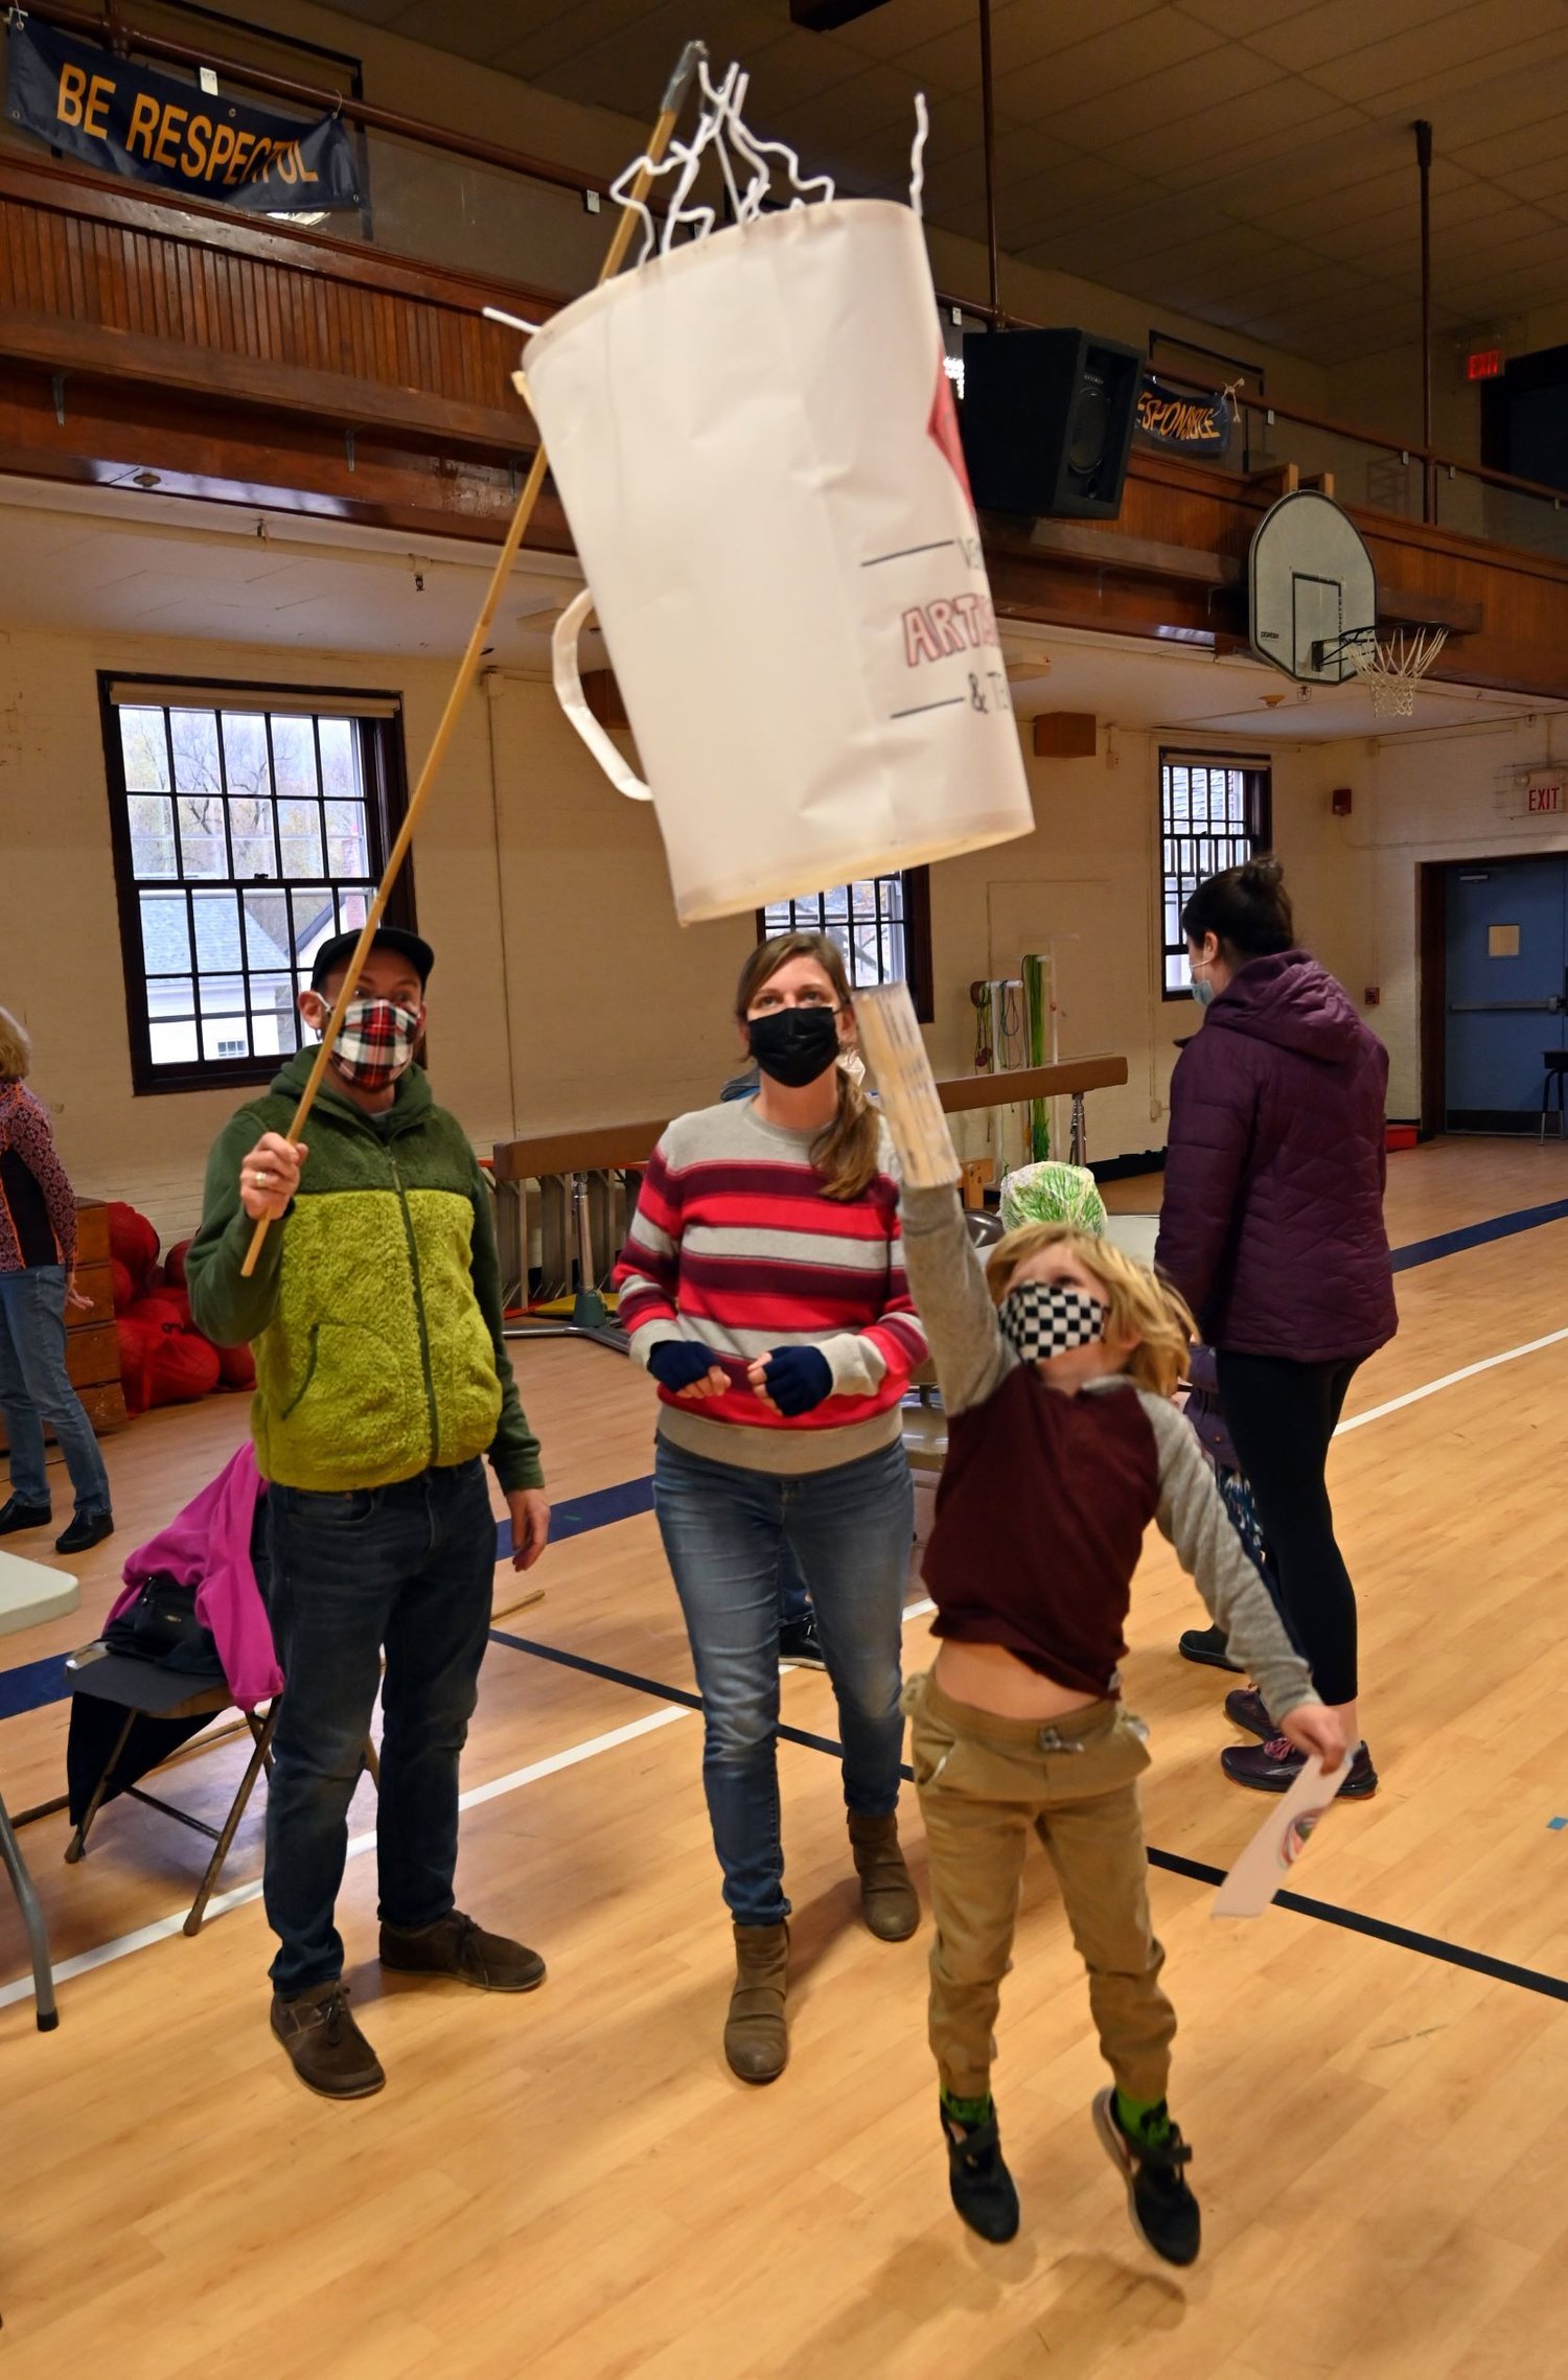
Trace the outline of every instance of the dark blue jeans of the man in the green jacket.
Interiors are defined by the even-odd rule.
[[[269,1488],[266,1557],[286,1680],[266,1787],[264,1894],[281,1944],[271,1980],[305,1992],[343,1973],[333,1906],[378,1685],[381,1916],[433,1925],[454,1906],[457,1761],[495,1585],[483,1464],[347,1495]]]

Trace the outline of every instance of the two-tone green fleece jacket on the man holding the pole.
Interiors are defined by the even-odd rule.
[[[243,1278],[240,1159],[288,1133],[309,1066],[302,1050],[224,1126],[186,1257],[197,1330],[255,1347],[262,1476],[340,1495],[488,1454],[502,1488],[542,1488],[502,1340],[490,1192],[419,1066],[374,1121],[321,1090],[300,1195]]]

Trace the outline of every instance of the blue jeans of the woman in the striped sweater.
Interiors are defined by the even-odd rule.
[[[702,1687],[702,1783],[738,1925],[788,1918],[778,1833],[778,1583],[792,1554],[838,1695],[845,1802],[899,1797],[899,1656],[914,1490],[904,1447],[776,1478],[659,1440],[654,1511]]]

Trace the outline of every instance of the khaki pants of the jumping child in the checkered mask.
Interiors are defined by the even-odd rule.
[[[1175,2011],[1159,1987],[1137,1778],[1142,1735],[1118,1702],[1066,1718],[995,1718],[930,1673],[904,1687],[930,1847],[930,2047],[942,2087],[990,2090],[1030,1828],[1056,1871],[1090,1971],[1099,2047],[1130,2099],[1164,2099]]]

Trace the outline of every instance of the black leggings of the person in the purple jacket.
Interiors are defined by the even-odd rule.
[[[1280,1602],[1323,1702],[1356,1699],[1356,1590],[1323,1471],[1361,1359],[1218,1354],[1221,1407],[1280,1568]]]

